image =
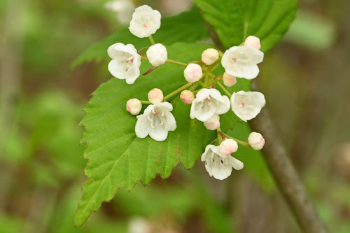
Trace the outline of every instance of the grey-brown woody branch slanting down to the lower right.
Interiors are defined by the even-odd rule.
[[[271,171],[276,185],[293,211],[294,216],[304,232],[327,233],[324,223],[319,218],[314,204],[307,195],[300,177],[288,157],[287,150],[276,134],[274,124],[266,107],[262,108],[257,118],[251,120],[253,131],[260,132],[265,138],[263,156]]]

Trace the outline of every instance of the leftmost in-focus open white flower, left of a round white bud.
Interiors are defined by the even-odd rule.
[[[111,62],[109,72],[119,79],[125,79],[127,84],[132,84],[140,76],[141,56],[134,45],[115,43],[107,50]]]

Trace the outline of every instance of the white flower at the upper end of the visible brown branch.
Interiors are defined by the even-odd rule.
[[[232,111],[245,122],[255,118],[265,103],[264,94],[260,92],[239,91],[231,97]]]

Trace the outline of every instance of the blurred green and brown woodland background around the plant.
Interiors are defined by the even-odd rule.
[[[73,227],[86,162],[77,125],[90,93],[111,76],[104,63],[69,66],[123,27],[105,3],[0,0],[0,232],[300,232],[262,160],[221,182],[202,164],[179,166],[165,181],[120,190]],[[164,15],[192,4],[141,3]],[[258,85],[330,232],[347,233],[350,1],[299,5],[290,31],[265,55]]]

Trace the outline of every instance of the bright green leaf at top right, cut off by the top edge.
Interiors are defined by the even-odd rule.
[[[258,36],[262,51],[276,44],[295,17],[297,0],[193,0],[225,48]]]

